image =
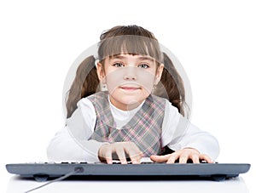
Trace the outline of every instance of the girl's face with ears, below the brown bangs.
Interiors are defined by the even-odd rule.
[[[117,108],[127,111],[136,108],[151,94],[160,81],[163,65],[150,56],[117,54],[98,63],[98,77],[107,84],[109,99]]]

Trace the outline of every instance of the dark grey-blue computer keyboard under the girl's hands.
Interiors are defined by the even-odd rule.
[[[155,163],[113,164],[86,162],[43,162],[7,164],[9,173],[44,181],[68,173],[84,179],[213,179],[224,180],[247,173],[248,163]],[[112,178],[110,178],[112,177]]]

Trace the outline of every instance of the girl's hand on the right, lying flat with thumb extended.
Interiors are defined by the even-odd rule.
[[[191,159],[193,163],[200,163],[201,160],[213,163],[209,156],[201,154],[198,150],[193,148],[184,148],[183,150],[177,150],[172,154],[167,154],[165,156],[150,156],[150,159],[154,162],[166,163],[174,163],[177,159],[179,160],[179,163],[186,163],[189,159]]]

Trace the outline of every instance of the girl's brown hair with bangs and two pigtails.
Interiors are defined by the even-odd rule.
[[[168,99],[184,116],[185,90],[183,80],[168,55],[161,53],[160,44],[152,32],[141,26],[115,26],[104,31],[100,39],[97,60],[100,60],[102,64],[104,64],[106,57],[120,53],[150,55],[158,64],[164,64],[165,68],[160,83],[164,86],[166,94],[157,92],[160,88],[156,88],[154,93]],[[79,99],[95,94],[100,90],[95,61],[94,56],[87,57],[76,71],[76,77],[68,92],[67,118],[72,116],[73,111],[77,109]]]

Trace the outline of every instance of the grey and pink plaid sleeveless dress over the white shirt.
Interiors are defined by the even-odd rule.
[[[88,99],[96,111],[96,127],[90,139],[108,143],[131,141],[143,151],[143,156],[160,154],[166,99],[149,95],[141,109],[120,129],[113,120],[108,92],[92,94]]]

